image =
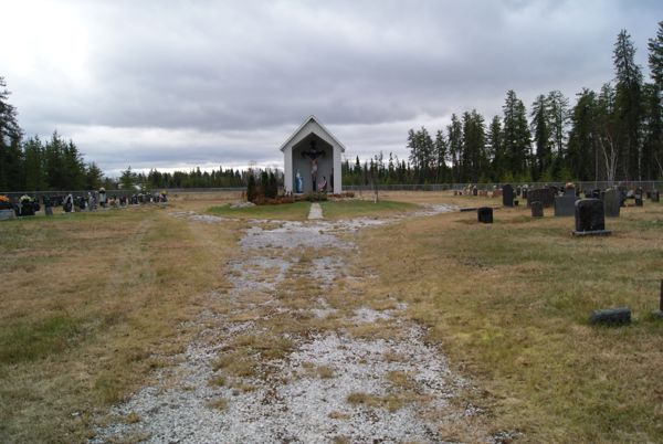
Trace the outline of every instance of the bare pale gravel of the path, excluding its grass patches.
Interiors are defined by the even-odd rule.
[[[183,213],[193,221],[219,222],[223,218]],[[227,297],[233,303],[229,314],[202,310],[198,332],[186,352],[173,364],[158,370],[154,385],[136,392],[112,409],[112,420],[99,427],[91,443],[143,437],[147,443],[328,443],[335,438],[350,442],[444,442],[439,434],[441,422],[453,422],[476,414],[472,406],[450,408],[449,400],[466,385],[453,374],[443,355],[423,341],[424,331],[398,316],[407,308],[378,311],[368,307],[355,310],[348,320],[369,324],[380,320],[398,323],[402,337],[393,340],[357,339],[345,330],[288,337],[293,351],[285,358],[262,362],[269,372],[261,378],[244,378],[252,391],[210,384],[213,362],[236,335],[256,332],[253,321],[229,323],[228,317],[250,308],[242,302],[245,292],[270,294],[282,282],[298,256],[294,249],[315,249],[311,276],[320,288],[330,286],[341,275],[341,255],[354,245],[338,233],[390,223],[394,219],[357,219],[352,221],[283,222],[269,229],[264,221],[251,221],[239,241],[243,258],[231,261],[229,279],[234,288]],[[340,250],[339,250],[340,249]],[[320,255],[319,252],[327,252]],[[288,310],[276,304],[276,311]],[[336,314],[324,297],[306,310],[316,317]],[[293,310],[293,315],[295,311]],[[189,326],[196,327],[196,325]],[[325,369],[320,372],[319,369]],[[379,397],[402,394],[389,376],[397,372],[411,380],[407,402],[394,411],[379,404]],[[373,397],[379,405],[354,404],[350,394]],[[225,409],[212,403],[228,402]],[[127,421],[130,417],[138,421]],[[434,420],[433,420],[434,419]]]

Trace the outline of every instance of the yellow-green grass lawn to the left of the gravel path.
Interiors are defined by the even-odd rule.
[[[157,207],[0,223],[0,442],[84,442],[181,351],[235,235]]]

